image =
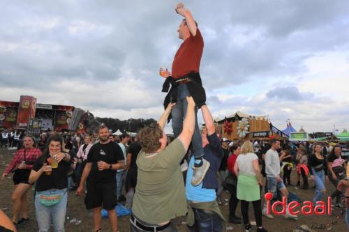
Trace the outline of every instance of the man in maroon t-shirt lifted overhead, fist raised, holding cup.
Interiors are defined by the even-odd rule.
[[[194,171],[191,177],[191,185],[198,186],[205,179],[210,165],[203,158],[205,153],[204,148],[202,148],[201,133],[196,116],[198,109],[206,104],[206,93],[202,86],[202,79],[199,72],[204,40],[191,11],[185,8],[183,3],[178,3],[175,11],[183,17],[177,29],[178,37],[183,42],[174,56],[172,72],[169,72],[167,68],[161,68],[159,70],[159,75],[165,78],[161,91],[168,92],[163,102],[165,109],[170,102],[176,103],[172,107],[168,118],[168,121],[172,119],[174,139],[181,134],[181,130],[183,129],[186,109],[188,108],[186,97],[193,97],[195,102],[195,132],[191,146],[191,153],[195,157],[195,162],[191,167]]]

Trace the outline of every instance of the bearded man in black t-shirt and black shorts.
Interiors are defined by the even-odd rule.
[[[121,148],[110,141],[109,130],[101,125],[98,130],[99,143],[89,150],[87,164],[84,167],[79,188],[76,194],[84,191],[84,182],[87,180],[85,205],[94,212],[94,231],[101,230],[101,210],[107,210],[112,232],[117,232],[117,183],[115,176],[118,169],[124,169],[124,155]]]

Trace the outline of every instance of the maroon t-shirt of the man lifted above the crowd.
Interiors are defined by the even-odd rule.
[[[196,35],[190,33],[190,37],[184,40],[179,47],[172,63],[172,77],[177,79],[190,72],[199,72],[204,40],[200,30],[196,30]]]

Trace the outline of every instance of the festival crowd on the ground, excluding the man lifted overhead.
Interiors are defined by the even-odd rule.
[[[268,142],[218,139],[219,135],[216,134],[206,105],[201,109],[206,123],[201,136],[204,158],[210,163],[210,169],[205,176],[209,181],[205,182],[205,187],[203,183],[192,185],[193,169],[188,169],[187,178],[183,178],[184,170],[179,164],[184,159],[188,162],[188,167],[193,167],[195,162],[191,150],[188,150],[195,128],[193,106],[195,102],[191,100],[183,130],[171,143],[168,143],[166,135],[163,134],[163,126],[166,120],[164,118],[168,117],[172,105],[166,109],[157,125],[144,127],[135,138],[128,134],[113,136],[105,125],[99,128],[98,137],[96,134],[75,133],[72,136],[52,132],[43,133],[39,143],[35,144],[34,137],[25,136],[24,148],[17,150],[2,175],[5,178],[13,172],[13,224],[20,226],[29,220],[27,192],[33,183],[36,183],[35,207],[40,231],[49,231],[51,223],[54,224],[55,231],[64,231],[67,192],[77,190],[77,195],[83,194],[85,182],[85,204],[87,209],[93,209],[95,231],[101,229],[102,207],[108,212],[111,228],[117,231],[114,207],[118,201],[133,208],[133,231],[140,231],[137,229],[140,225],[137,222],[149,226],[163,223],[166,225],[170,223],[166,219],[174,215],[188,217],[189,214],[194,219],[188,224],[194,228],[193,231],[203,231],[200,226],[205,227],[207,218],[216,226],[212,231],[222,231],[223,227],[220,226],[223,226],[221,222],[225,222],[225,219],[218,205],[225,204],[221,197],[223,190],[230,192],[228,221],[233,224],[243,222],[246,231],[249,231],[251,224],[248,203],[251,201],[259,229],[262,228],[262,215],[273,218],[266,214],[265,209],[262,210],[263,185],[265,192],[272,192],[276,196],[275,200],[277,196],[288,196],[286,186],[313,191],[315,206],[316,201],[323,200],[326,194],[325,176],[336,187],[330,194],[334,207],[344,208],[341,199],[348,194],[344,194],[346,191],[342,188],[348,185],[348,180],[346,162],[341,157],[341,146],[292,143],[284,144],[281,148],[280,141],[276,139]],[[38,148],[40,143],[45,145]],[[169,145],[166,146],[167,144]],[[137,159],[138,154],[140,160]],[[149,159],[152,155],[156,159]],[[54,160],[57,164],[54,164]],[[108,172],[101,172],[103,170]],[[120,177],[117,170],[125,173],[121,180],[118,179]],[[292,183],[289,178],[292,171],[297,172],[297,183]],[[315,190],[309,187],[309,177],[314,180]],[[113,192],[114,196],[110,194]],[[187,201],[190,209],[188,214]],[[154,202],[159,202],[158,206],[154,206]],[[241,212],[237,212],[239,202]],[[207,208],[214,214],[205,213]],[[204,215],[205,220],[200,221]],[[242,219],[237,215],[242,215]],[[157,217],[159,219],[155,221]],[[287,213],[285,217],[296,219]],[[170,226],[173,229],[173,224]],[[171,228],[170,226],[166,228]]]

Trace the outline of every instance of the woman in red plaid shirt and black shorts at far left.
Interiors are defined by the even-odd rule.
[[[13,191],[11,199],[13,201],[12,222],[15,225],[28,222],[29,220],[27,192],[31,185],[28,182],[28,178],[34,162],[41,155],[41,150],[34,148],[34,137],[24,137],[23,146],[24,148],[17,151],[2,175],[2,179],[4,179],[9,173],[14,172],[13,183],[15,184],[15,191]],[[20,212],[22,212],[22,219],[18,220]]]

